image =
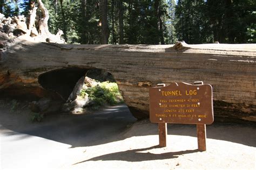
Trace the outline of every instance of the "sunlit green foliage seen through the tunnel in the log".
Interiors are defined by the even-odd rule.
[[[83,89],[80,96],[88,96],[93,109],[98,109],[105,104],[116,105],[123,103],[117,83],[111,83],[109,81],[101,82],[95,87]]]

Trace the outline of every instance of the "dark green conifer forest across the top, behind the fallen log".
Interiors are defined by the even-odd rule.
[[[44,0],[49,30],[70,44],[255,43],[255,0]],[[0,0],[5,17],[31,0]],[[39,15],[38,15],[39,16]],[[39,19],[39,18],[37,18]]]

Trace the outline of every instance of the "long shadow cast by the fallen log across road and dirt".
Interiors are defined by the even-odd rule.
[[[4,135],[19,135],[19,139],[37,136],[71,147],[83,147],[134,136],[158,135],[157,124],[150,123],[149,119],[136,122],[137,119],[125,104],[107,107],[93,114],[53,115],[46,117],[41,123],[31,123],[22,114],[5,111],[0,110],[0,130],[7,129],[9,131],[5,131]],[[23,125],[19,126],[21,122]],[[167,129],[167,133],[171,135],[197,137],[196,125],[168,124]],[[214,122],[206,126],[208,139],[226,140],[253,147],[256,147],[255,131],[255,124]]]

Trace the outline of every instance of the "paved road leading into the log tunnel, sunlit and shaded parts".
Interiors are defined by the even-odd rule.
[[[56,162],[59,167],[65,159],[75,156],[75,150],[67,148],[118,140],[112,136],[136,121],[126,105],[87,115],[51,116],[42,123],[24,124],[20,122],[24,121],[22,115],[6,110],[0,110],[0,116],[0,169],[54,169]]]

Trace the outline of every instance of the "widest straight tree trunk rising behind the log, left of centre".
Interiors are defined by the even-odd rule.
[[[101,0],[102,10],[102,32],[101,32],[101,44],[107,44],[109,40],[109,30],[107,27],[107,0]]]

